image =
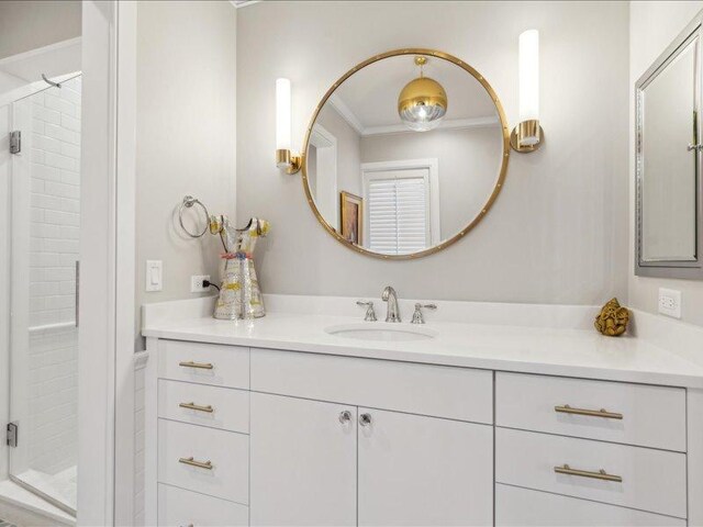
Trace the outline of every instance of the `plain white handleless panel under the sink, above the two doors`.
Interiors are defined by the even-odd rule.
[[[252,390],[493,423],[493,372],[252,349]]]

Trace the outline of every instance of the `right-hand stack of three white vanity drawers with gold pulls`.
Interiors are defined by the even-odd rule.
[[[684,389],[496,372],[495,425],[496,525],[685,525]]]

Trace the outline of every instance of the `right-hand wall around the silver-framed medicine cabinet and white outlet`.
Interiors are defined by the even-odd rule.
[[[635,98],[637,79],[679,35],[695,14],[703,9],[703,2],[643,1],[632,2],[629,21],[629,261],[628,298],[629,306],[650,313],[658,312],[659,288],[673,288],[682,292],[682,319],[703,325],[703,281],[662,280],[636,277],[634,273],[635,245]]]

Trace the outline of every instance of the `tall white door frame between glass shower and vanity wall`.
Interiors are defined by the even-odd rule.
[[[82,43],[78,525],[131,525],[136,2],[83,1]]]

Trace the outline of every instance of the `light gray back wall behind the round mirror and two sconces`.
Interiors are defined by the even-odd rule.
[[[417,13],[422,26],[417,26]],[[257,247],[270,293],[601,303],[626,294],[626,2],[260,2],[238,13],[237,214],[272,231]],[[294,144],[347,69],[432,47],[478,68],[517,117],[517,36],[542,32],[544,148],[511,156],[505,188],[465,239],[417,261],[357,255],[317,224],[300,176],[276,169],[275,80],[293,90]]]

